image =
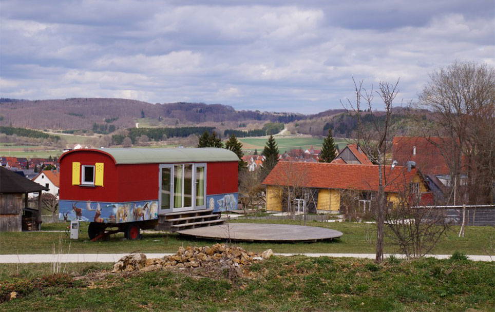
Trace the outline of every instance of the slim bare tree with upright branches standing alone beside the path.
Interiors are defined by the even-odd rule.
[[[354,79],[353,79],[354,81]],[[347,99],[346,104],[342,103],[348,113],[357,122],[355,143],[363,150],[368,158],[378,165],[378,192],[376,193],[376,253],[375,261],[383,261],[384,253],[384,221],[385,209],[387,206],[387,198],[385,194],[385,186],[387,185],[387,177],[385,174],[386,152],[390,149],[393,129],[391,128],[391,119],[393,115],[393,103],[397,96],[399,80],[395,84],[380,82],[378,90],[373,90],[373,86],[368,91],[363,88],[363,81],[356,83],[355,102]],[[383,103],[383,112],[374,112],[374,94],[377,94]],[[369,110],[371,115],[372,129],[365,127],[363,115]]]

